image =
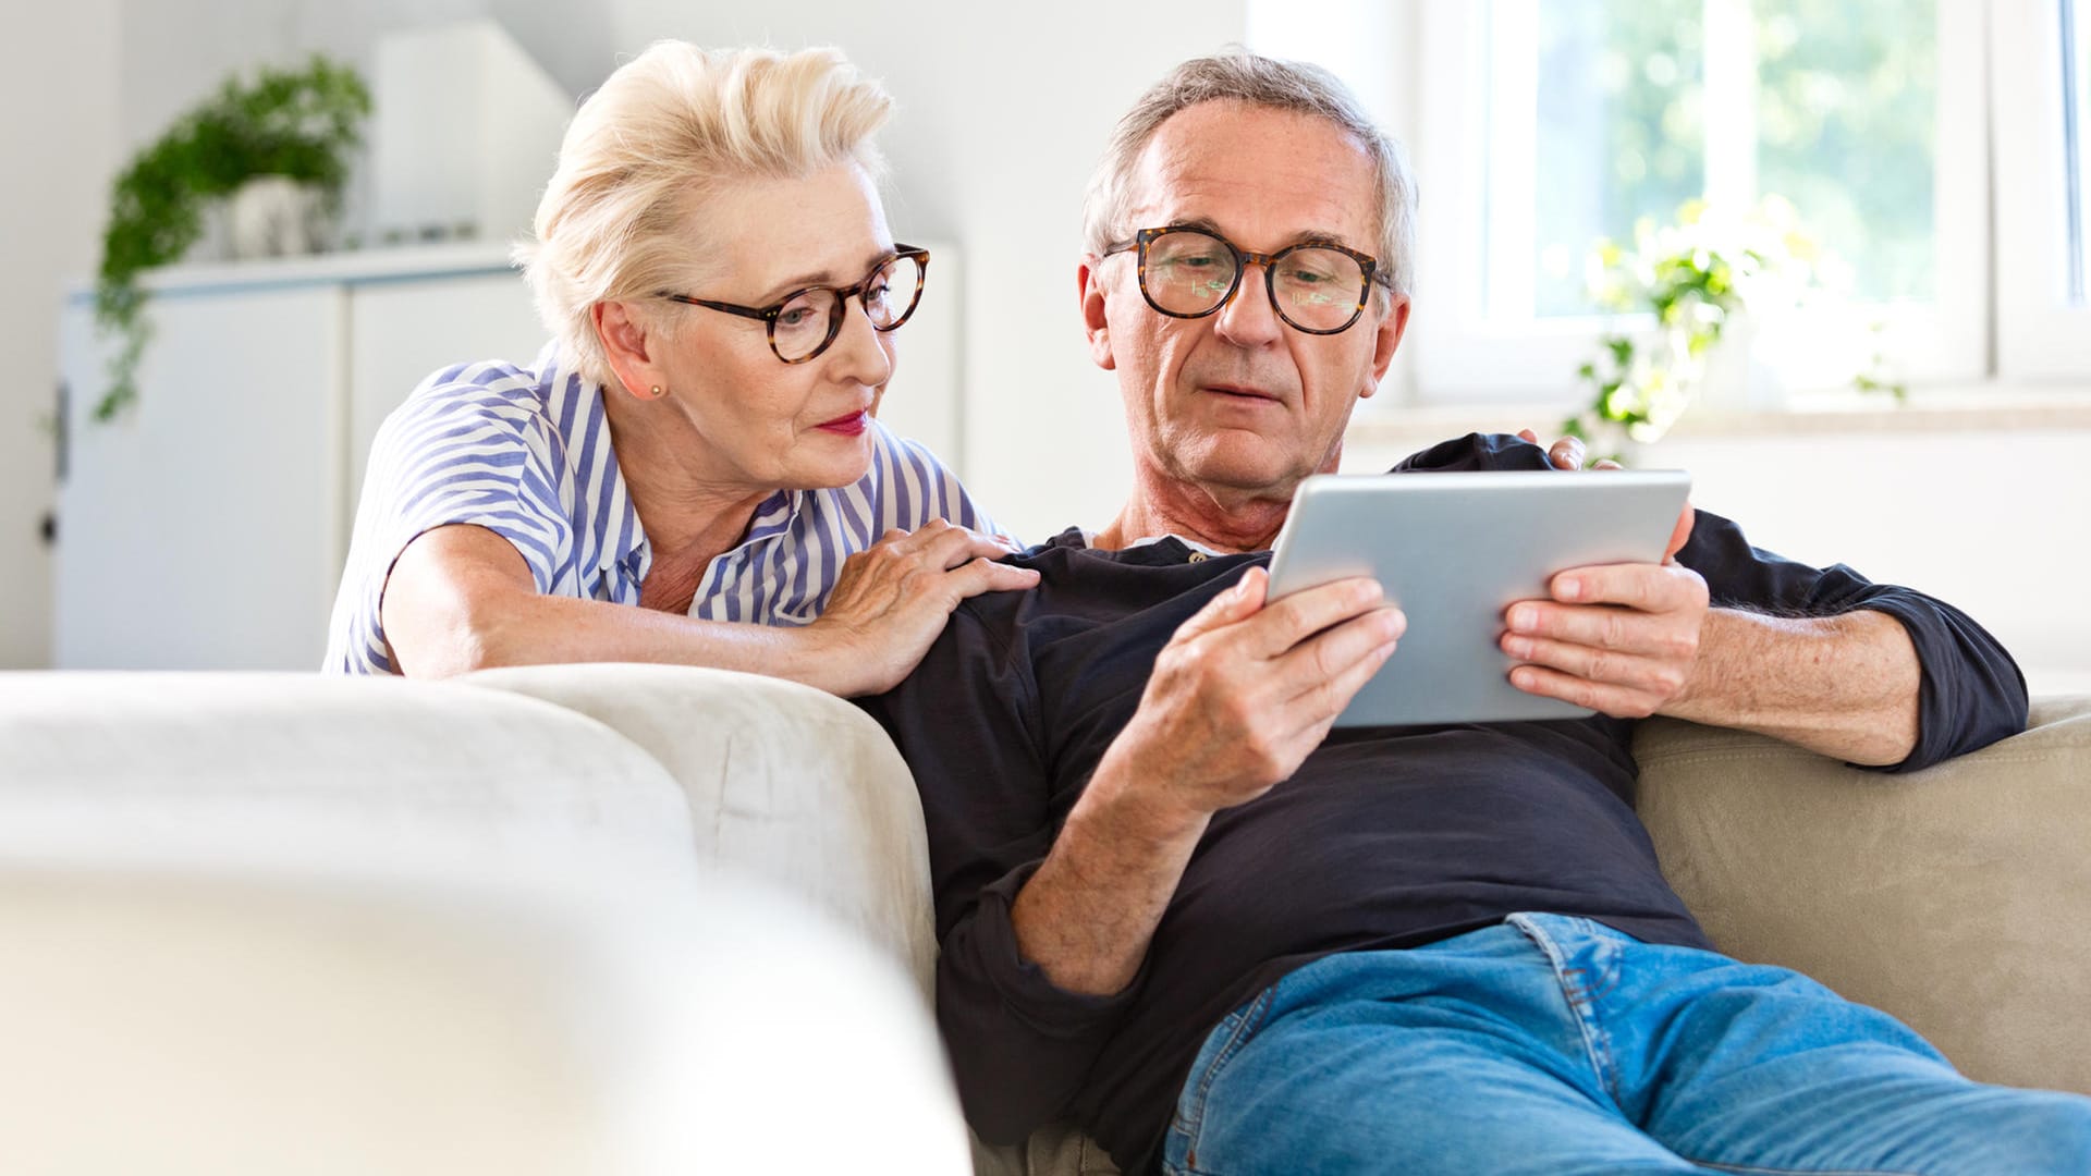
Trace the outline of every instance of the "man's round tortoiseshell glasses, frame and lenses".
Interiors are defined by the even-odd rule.
[[[1294,331],[1340,335],[1365,312],[1365,293],[1380,262],[1342,245],[1290,245],[1250,253],[1225,236],[1192,226],[1142,228],[1104,257],[1140,249],[1140,297],[1169,318],[1204,318],[1234,301],[1242,270],[1263,266],[1271,308]],[[1386,285],[1386,278],[1378,278]]]

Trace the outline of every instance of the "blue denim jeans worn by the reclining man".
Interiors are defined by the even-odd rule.
[[[1307,965],[1207,1038],[1171,1176],[2091,1174],[2091,1099],[1982,1086],[1800,973],[1508,923]]]

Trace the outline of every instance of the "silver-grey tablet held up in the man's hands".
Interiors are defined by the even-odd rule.
[[[1683,471],[1315,475],[1271,555],[1271,598],[1372,575],[1409,617],[1336,726],[1587,718],[1510,684],[1503,611],[1595,563],[1660,563]]]

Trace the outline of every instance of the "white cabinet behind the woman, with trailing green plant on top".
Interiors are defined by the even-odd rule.
[[[59,668],[312,670],[370,437],[431,370],[527,364],[542,329],[491,247],[169,270],[140,398],[92,421],[107,345],[73,297]]]

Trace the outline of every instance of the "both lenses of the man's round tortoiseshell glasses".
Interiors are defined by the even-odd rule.
[[[1148,241],[1142,282],[1161,310],[1198,316],[1227,299],[1236,266],[1234,249],[1211,232],[1169,230]],[[1271,264],[1269,291],[1286,322],[1303,331],[1334,331],[1357,316],[1365,270],[1349,253],[1303,245],[1282,251]]]

